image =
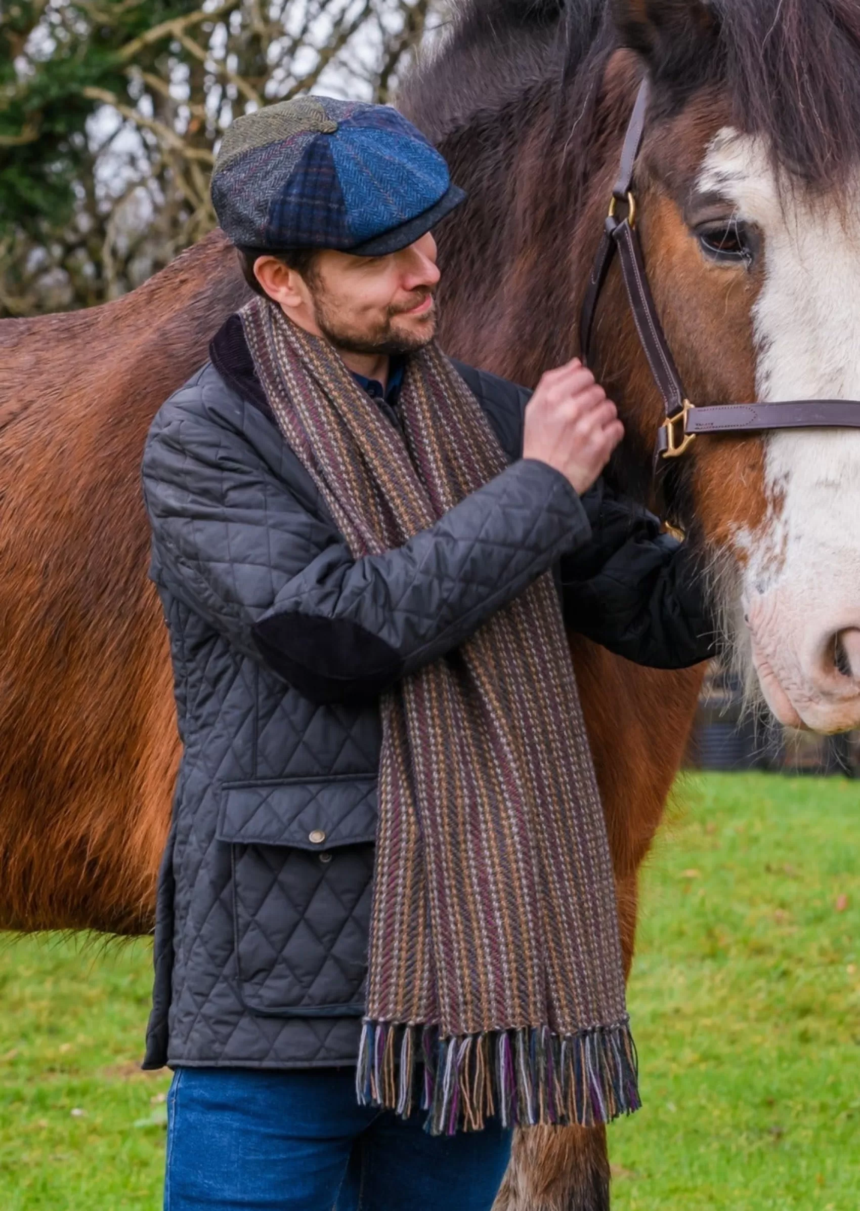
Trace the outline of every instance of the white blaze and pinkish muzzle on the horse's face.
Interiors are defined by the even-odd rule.
[[[858,174],[860,184],[860,173]],[[780,193],[761,139],[726,128],[698,186],[762,234],[753,310],[758,398],[860,400],[860,220],[853,205]],[[860,406],[859,406],[860,411]],[[749,562],[739,613],[766,698],[784,722],[860,724],[860,430],[766,438],[766,524],[738,535]],[[836,637],[853,676],[833,665]],[[798,719],[799,717],[799,719]]]

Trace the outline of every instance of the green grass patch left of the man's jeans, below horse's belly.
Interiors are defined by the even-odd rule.
[[[170,1074],[138,1067],[149,993],[144,943],[0,949],[2,1211],[160,1207]]]

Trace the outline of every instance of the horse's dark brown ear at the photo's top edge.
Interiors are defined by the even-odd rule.
[[[652,79],[677,81],[716,50],[719,27],[705,0],[612,0],[612,12],[619,42],[644,59]]]

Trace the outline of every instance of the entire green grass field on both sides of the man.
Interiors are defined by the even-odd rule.
[[[690,777],[630,989],[644,1108],[615,1211],[860,1206],[860,786]],[[0,951],[0,1207],[156,1211],[167,1079],[137,1069],[144,945]]]

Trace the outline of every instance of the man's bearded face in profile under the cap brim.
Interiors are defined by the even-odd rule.
[[[428,231],[385,257],[326,249],[304,280],[308,305],[323,337],[354,354],[409,354],[436,332],[434,293],[440,272]]]

